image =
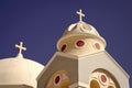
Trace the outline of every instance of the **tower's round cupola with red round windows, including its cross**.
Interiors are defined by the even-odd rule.
[[[79,22],[70,24],[57,42],[57,50],[76,56],[85,56],[106,48],[106,41],[96,29],[84,22],[85,14],[77,11]]]

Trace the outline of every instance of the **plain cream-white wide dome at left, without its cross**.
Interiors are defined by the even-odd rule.
[[[29,85],[36,88],[43,65],[22,56],[0,59],[0,85]]]

